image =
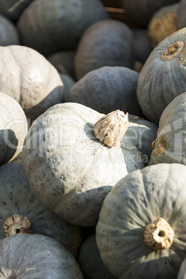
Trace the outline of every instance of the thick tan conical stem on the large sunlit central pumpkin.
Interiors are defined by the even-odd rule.
[[[115,110],[101,117],[94,124],[94,135],[103,145],[116,146],[128,128],[128,112]]]

